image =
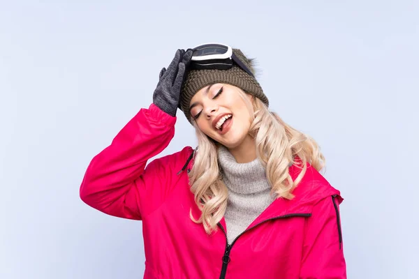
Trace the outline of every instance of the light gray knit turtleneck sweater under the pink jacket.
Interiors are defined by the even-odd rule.
[[[218,156],[223,182],[228,188],[224,218],[231,244],[274,201],[274,196],[270,195],[271,186],[258,159],[237,163],[224,146],[219,148]]]

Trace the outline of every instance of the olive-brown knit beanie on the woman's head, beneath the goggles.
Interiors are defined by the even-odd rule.
[[[233,49],[233,52],[254,75],[255,71],[252,60],[247,59],[240,50]],[[191,114],[189,114],[189,104],[191,103],[191,99],[200,89],[215,83],[237,86],[244,92],[259,98],[265,105],[269,105],[269,100],[267,100],[256,78],[235,64],[228,70],[189,70],[182,86],[180,109],[184,112],[186,119],[190,123]]]

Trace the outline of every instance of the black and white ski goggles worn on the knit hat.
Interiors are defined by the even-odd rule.
[[[190,67],[195,70],[228,70],[236,64],[254,77],[251,70],[234,54],[233,48],[220,43],[206,43],[193,47]]]

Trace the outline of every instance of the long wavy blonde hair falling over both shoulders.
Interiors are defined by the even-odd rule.
[[[255,139],[256,154],[266,169],[272,193],[277,198],[293,199],[292,192],[304,176],[307,163],[318,171],[325,167],[325,158],[318,144],[308,135],[289,126],[276,113],[270,112],[258,98],[253,97],[250,101],[241,89],[237,88],[237,91],[251,112],[249,135]],[[192,210],[190,216],[193,222],[203,223],[205,232],[211,234],[216,231],[217,223],[226,212],[228,198],[218,163],[217,150],[220,144],[207,137],[195,121],[191,122],[196,128],[198,150],[189,172],[189,183],[201,216],[194,218]],[[288,172],[291,164],[301,169],[295,181]]]

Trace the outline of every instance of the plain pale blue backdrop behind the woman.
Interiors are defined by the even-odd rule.
[[[418,1],[1,1],[0,278],[142,278],[141,223],[89,208],[91,158],[177,48],[238,47],[341,190],[348,278],[419,278]],[[179,112],[159,156],[196,145]]]

